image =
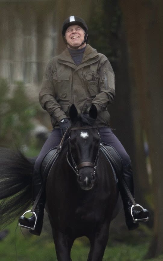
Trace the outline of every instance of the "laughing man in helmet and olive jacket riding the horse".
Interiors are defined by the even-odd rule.
[[[119,179],[119,190],[122,197],[126,224],[129,230],[136,229],[139,221],[148,218],[148,211],[136,211],[122,180],[134,198],[133,172],[130,157],[121,142],[109,126],[110,115],[107,105],[115,97],[115,78],[110,62],[105,55],[97,53],[88,41],[88,27],[83,19],[77,16],[68,17],[62,25],[62,36],[67,48],[54,57],[48,64],[39,92],[39,102],[51,117],[52,132],[40,151],[35,162],[33,173],[33,202],[42,187],[40,166],[46,153],[55,148],[62,135],[71,125],[69,108],[74,104],[78,113],[89,113],[91,105],[96,106],[98,117],[96,125],[102,143],[111,145],[120,155],[123,165],[122,177]],[[20,225],[31,228],[30,232],[40,235],[45,207],[45,190],[41,193],[30,218],[21,216]],[[131,209],[132,208],[132,209]],[[133,215],[133,216],[132,216]],[[37,218],[37,219],[36,219]],[[134,219],[137,222],[134,222]],[[35,221],[36,226],[34,227]]]

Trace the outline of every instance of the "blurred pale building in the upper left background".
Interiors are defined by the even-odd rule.
[[[55,1],[0,0],[0,77],[23,81],[31,97],[57,52],[55,19]]]

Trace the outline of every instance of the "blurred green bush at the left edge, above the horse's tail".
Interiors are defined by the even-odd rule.
[[[0,79],[0,145],[20,147],[28,140],[33,128],[31,118],[36,115],[37,106],[25,94],[22,82],[16,82],[14,90],[4,79]]]

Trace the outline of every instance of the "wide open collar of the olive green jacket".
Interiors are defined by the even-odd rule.
[[[92,64],[98,61],[99,59],[99,54],[97,53],[96,49],[92,48],[89,44],[86,45],[82,62],[78,66],[74,63],[71,54],[68,51],[68,48],[66,48],[61,54],[58,55],[59,63],[66,64],[74,68],[75,70],[78,70],[86,65]]]

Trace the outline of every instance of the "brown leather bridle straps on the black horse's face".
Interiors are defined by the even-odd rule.
[[[82,129],[97,129],[96,126],[83,126],[83,127],[76,127],[76,128],[71,128],[71,130],[82,130]],[[79,170],[83,167],[92,167],[93,168],[93,175],[95,175],[96,173],[96,168],[97,168],[97,164],[98,164],[98,160],[99,160],[99,149],[100,149],[100,142],[99,142],[99,148],[98,148],[98,152],[97,152],[97,156],[96,156],[96,159],[95,159],[95,162],[94,164],[92,162],[89,162],[89,161],[84,161],[82,163],[80,163],[78,166],[77,164],[75,163],[74,161],[74,158],[72,156],[72,153],[71,153],[71,144],[70,144],[70,139],[69,139],[69,151],[70,151],[70,155],[71,155],[71,161],[72,161],[72,165],[70,163],[70,161],[68,160],[68,152],[67,152],[67,162],[68,164],[70,165],[70,167],[72,168],[72,170],[75,172],[75,174],[77,176],[79,176]]]

